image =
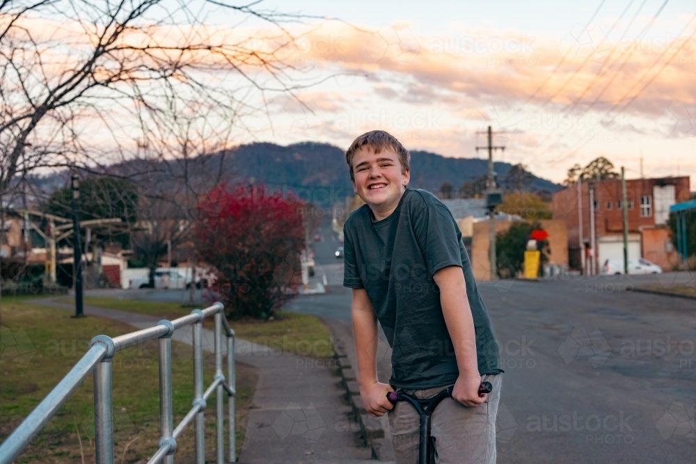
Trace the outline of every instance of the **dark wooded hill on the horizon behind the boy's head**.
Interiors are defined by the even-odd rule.
[[[148,170],[159,171],[159,177],[177,175],[181,166],[173,161],[132,160],[124,161],[106,168],[107,173],[137,179],[139,173]],[[194,166],[195,165],[195,166]],[[303,200],[310,200],[320,207],[331,207],[336,200],[344,200],[353,195],[344,151],[328,143],[295,143],[276,145],[274,143],[251,143],[240,145],[232,150],[198,157],[191,160],[187,169],[196,175],[215,175],[223,169],[222,179],[242,182],[253,179],[263,182],[269,189],[294,191]],[[502,183],[510,163],[495,163],[498,181]],[[487,161],[483,159],[448,158],[439,154],[411,152],[411,186],[437,192],[443,182],[449,182],[455,191],[464,182],[471,181],[487,173]],[[152,177],[150,177],[152,179]],[[35,177],[33,182],[41,191],[47,192],[69,182],[68,171],[54,173],[47,177]],[[145,181],[143,182],[152,182]],[[157,182],[155,182],[157,184]],[[166,182],[161,185],[166,186]],[[503,186],[504,187],[504,186]],[[532,189],[553,193],[561,188],[546,179],[533,176]]]

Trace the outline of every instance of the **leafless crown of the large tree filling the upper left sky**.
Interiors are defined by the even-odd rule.
[[[274,35],[211,27],[217,13],[270,24]],[[182,189],[149,198],[180,206],[176,217],[190,224],[196,195],[222,177],[191,177],[189,161],[227,147],[220,141],[232,124],[244,129],[242,117],[267,114],[268,93],[319,81],[295,79],[283,61],[295,40],[283,22],[298,18],[258,1],[0,0],[0,205],[13,179],[41,168],[143,179],[165,166],[180,174],[169,186]],[[226,135],[207,143],[206,124]],[[166,163],[111,166],[150,157]]]

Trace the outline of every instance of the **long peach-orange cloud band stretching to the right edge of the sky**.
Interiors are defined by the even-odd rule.
[[[409,90],[399,93],[406,102],[448,94],[526,102],[533,95],[532,104],[578,101],[580,109],[597,99],[601,111],[620,108],[654,79],[631,111],[656,115],[696,93],[696,40],[686,39],[616,43],[593,29],[559,44],[516,31],[460,29],[437,36],[416,35],[403,24],[372,32],[327,24],[303,35],[308,45],[287,58],[380,74],[382,86],[374,90],[383,97],[395,97],[385,81],[407,82]]]

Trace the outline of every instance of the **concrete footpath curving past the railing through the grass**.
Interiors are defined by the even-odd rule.
[[[73,310],[51,298],[35,303]],[[104,317],[148,328],[159,318],[102,307],[85,306],[88,316]],[[234,326],[232,326],[234,328]],[[96,335],[96,334],[95,334]],[[212,352],[213,333],[203,330],[203,344]],[[191,328],[173,340],[191,344]],[[224,344],[223,344],[224,349]],[[370,463],[372,451],[361,444],[352,408],[345,399],[335,360],[303,358],[237,339],[237,361],[257,367],[258,385],[246,438],[239,456],[243,464],[360,464]]]

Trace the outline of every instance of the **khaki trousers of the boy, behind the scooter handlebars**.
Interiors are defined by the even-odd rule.
[[[493,384],[486,402],[468,408],[452,398],[445,398],[432,413],[431,461],[436,464],[495,464],[496,415],[500,401],[500,375],[486,375],[481,381]],[[416,398],[434,397],[450,385],[427,390],[402,390]],[[420,419],[416,409],[399,401],[389,411],[389,424],[396,464],[418,464]]]

